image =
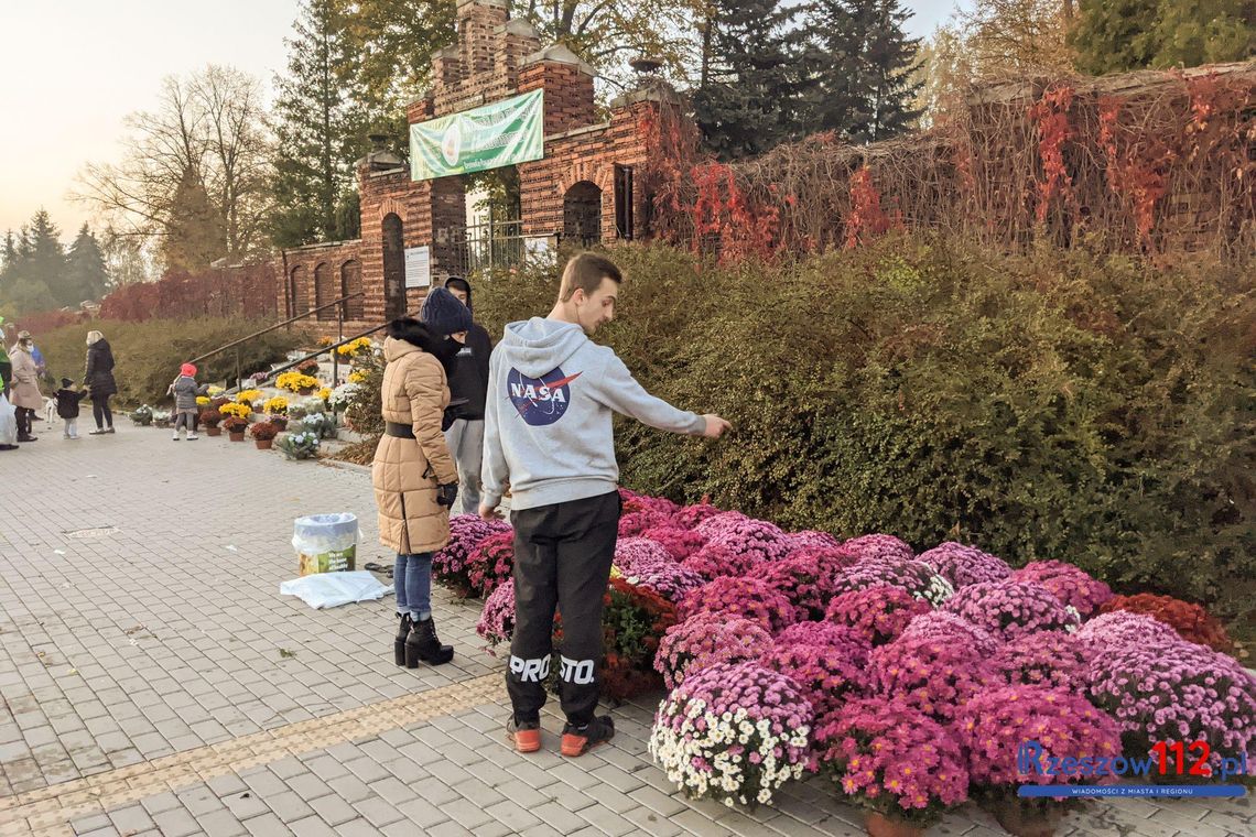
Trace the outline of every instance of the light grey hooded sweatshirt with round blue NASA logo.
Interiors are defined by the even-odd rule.
[[[510,484],[511,508],[536,508],[615,491],[612,414],[701,435],[706,420],[654,398],[614,350],[580,326],[533,317],[511,323],[489,363],[484,503]]]

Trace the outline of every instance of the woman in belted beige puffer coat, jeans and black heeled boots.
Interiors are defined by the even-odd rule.
[[[379,507],[379,542],[397,552],[393,585],[401,627],[393,642],[398,665],[418,668],[453,659],[432,620],[432,553],[450,540],[450,506],[458,474],[445,444],[450,403],[447,369],[460,349],[417,320],[388,324],[381,407],[384,434],[371,467]]]

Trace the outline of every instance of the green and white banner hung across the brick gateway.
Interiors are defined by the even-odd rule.
[[[409,127],[411,179],[482,172],[544,157],[544,90]]]

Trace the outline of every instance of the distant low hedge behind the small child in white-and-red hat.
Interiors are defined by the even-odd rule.
[[[99,330],[113,348],[117,364],[121,405],[165,404],[170,381],[178,375],[178,368],[196,358],[224,346],[232,340],[266,328],[265,323],[239,320],[148,320],[146,323],[121,323],[93,320],[45,334],[36,334],[35,345],[44,353],[48,371],[55,381],[62,376],[82,383],[87,361],[87,333]],[[301,345],[298,331],[271,331],[240,346],[240,366],[245,375],[270,369],[284,356]],[[197,378],[202,383],[235,378],[234,351],[222,353],[200,364]]]

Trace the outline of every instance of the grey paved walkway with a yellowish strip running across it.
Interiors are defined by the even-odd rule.
[[[436,592],[455,663],[392,663],[392,599],[314,611],[294,517],[349,511],[364,469],[153,428],[0,453],[0,834],[862,834],[824,782],[756,812],[685,799],[646,753],[657,698],[580,760],[502,743],[479,606]],[[1091,803],[1061,832],[1256,834],[1250,798]],[[1001,833],[967,807],[938,834]]]

